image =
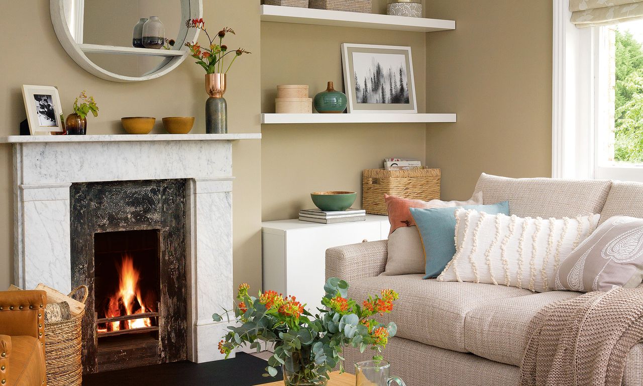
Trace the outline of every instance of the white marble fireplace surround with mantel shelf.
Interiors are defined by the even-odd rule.
[[[186,179],[188,359],[221,359],[232,294],[232,141],[261,134],[8,136],[14,147],[15,283],[71,290],[71,183]]]

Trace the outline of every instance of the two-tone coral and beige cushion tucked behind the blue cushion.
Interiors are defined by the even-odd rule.
[[[392,196],[390,196],[392,197]],[[474,194],[471,199],[467,201],[440,201],[439,199],[432,199],[431,201],[421,201],[419,199],[402,199],[392,197],[397,201],[396,205],[389,205],[389,217],[391,219],[391,227],[393,223],[399,221],[400,218],[410,218],[411,216],[408,208],[447,208],[447,207],[461,207],[462,205],[478,205],[482,204],[482,193]],[[397,210],[395,215],[391,214],[391,210]],[[394,218],[396,220],[394,220]],[[413,221],[413,224],[415,222]],[[426,254],[424,253],[424,246],[422,246],[422,239],[417,226],[401,226],[388,235],[388,258],[386,259],[386,269],[381,275],[408,275],[410,273],[424,273],[426,265]]]

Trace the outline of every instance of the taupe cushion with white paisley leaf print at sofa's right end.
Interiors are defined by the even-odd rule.
[[[561,263],[556,289],[635,288],[643,278],[643,219],[613,216]]]

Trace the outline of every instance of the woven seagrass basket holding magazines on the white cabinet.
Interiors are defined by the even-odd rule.
[[[362,173],[362,207],[370,214],[388,214],[384,195],[429,201],[440,198],[440,169],[366,169]]]

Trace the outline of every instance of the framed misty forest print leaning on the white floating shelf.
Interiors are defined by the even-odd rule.
[[[341,44],[349,113],[417,113],[411,48]]]

